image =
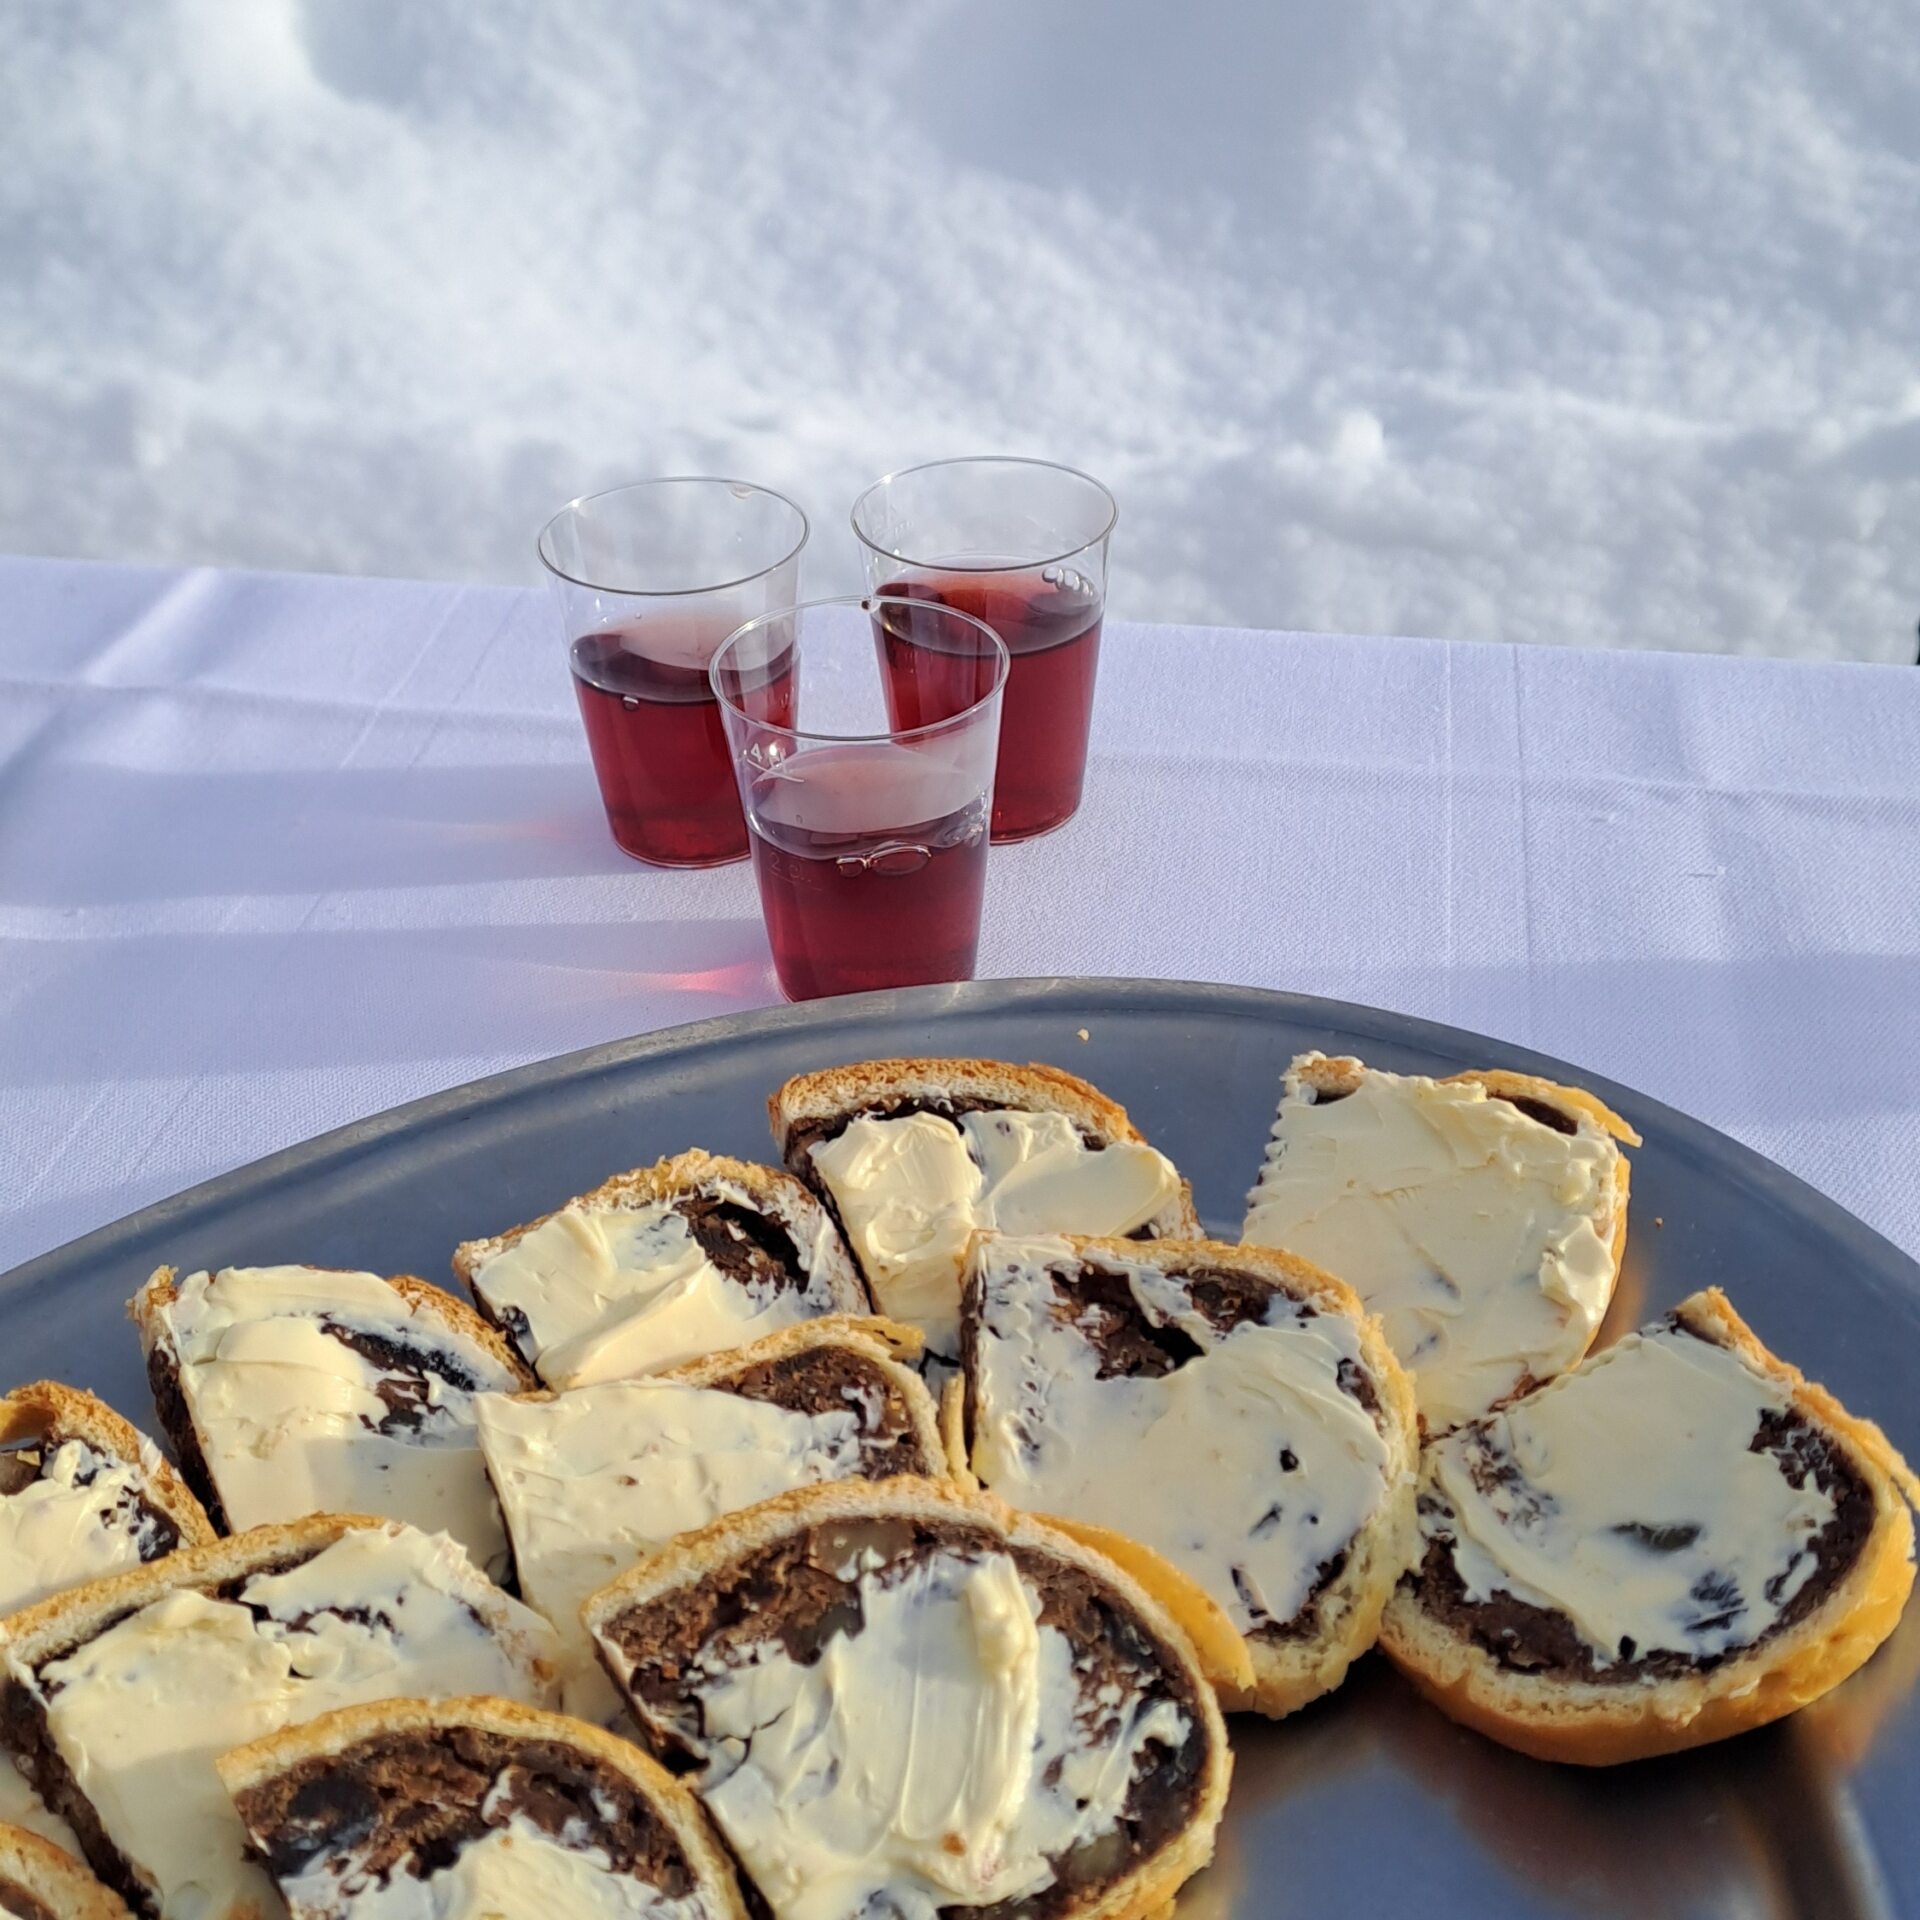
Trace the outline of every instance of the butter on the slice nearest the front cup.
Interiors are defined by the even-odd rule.
[[[812,1148],[879,1309],[960,1352],[960,1263],[975,1229],[1121,1235],[1181,1192],[1142,1140],[1089,1146],[1064,1114],[860,1117]]]

